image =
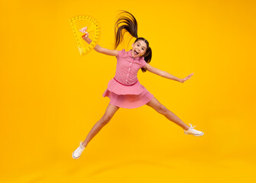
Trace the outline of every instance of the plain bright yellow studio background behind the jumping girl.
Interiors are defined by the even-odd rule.
[[[255,172],[254,1],[1,2],[2,182],[253,182]],[[102,93],[115,56],[80,56],[69,18],[99,21],[99,45],[114,43],[118,10],[134,14],[151,66],[184,83],[138,72],[155,98],[196,137],[143,106],[119,109],[86,147],[109,104]]]

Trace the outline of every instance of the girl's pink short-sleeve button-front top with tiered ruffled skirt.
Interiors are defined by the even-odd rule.
[[[131,50],[118,51],[115,77],[109,81],[103,97],[110,98],[110,104],[119,108],[138,108],[154,97],[138,81],[138,70],[145,68],[144,57],[133,58]]]

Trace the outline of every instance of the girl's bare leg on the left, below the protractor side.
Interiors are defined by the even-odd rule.
[[[100,118],[100,120],[92,127],[92,130],[88,133],[86,136],[86,140],[83,141],[82,145],[86,147],[90,140],[94,136],[96,136],[97,133],[99,133],[99,130],[102,129],[106,124],[109,123],[111,118],[114,116],[115,112],[118,111],[118,107],[112,104],[109,104],[107,109],[105,110],[105,114]]]

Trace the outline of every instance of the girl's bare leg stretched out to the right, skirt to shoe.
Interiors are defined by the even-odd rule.
[[[190,126],[186,125],[182,120],[180,120],[179,117],[177,117],[177,115],[173,114],[173,112],[169,111],[166,107],[164,107],[163,104],[160,104],[160,102],[157,101],[157,98],[153,98],[147,103],[147,105],[151,108],[154,108],[154,110],[158,113],[163,114],[165,117],[167,117],[168,120],[173,121],[184,130],[189,130]]]

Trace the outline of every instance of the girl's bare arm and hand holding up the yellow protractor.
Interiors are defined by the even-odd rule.
[[[91,43],[92,40],[89,38],[89,33],[86,32],[87,27],[83,27],[82,29],[80,29],[80,32],[84,33],[83,35],[83,40],[86,41],[86,43]],[[94,50],[96,50],[99,53],[103,53],[106,55],[110,55],[110,56],[118,56],[118,50],[109,50],[103,47],[100,47],[99,44],[96,44],[96,47],[94,47]]]

